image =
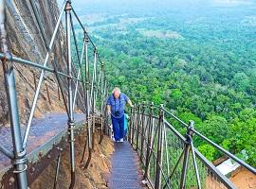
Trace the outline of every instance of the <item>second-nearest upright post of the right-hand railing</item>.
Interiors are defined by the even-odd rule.
[[[156,154],[156,172],[155,172],[155,189],[161,188],[161,168],[162,168],[162,144],[163,144],[163,121],[164,112],[163,105],[159,108],[159,120],[158,120],[158,137],[157,137],[157,154]]]

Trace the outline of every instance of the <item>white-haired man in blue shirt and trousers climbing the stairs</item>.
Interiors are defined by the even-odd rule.
[[[134,108],[132,101],[126,94],[120,93],[118,87],[114,88],[107,99],[107,114],[111,115],[114,138],[116,142],[123,142],[124,137],[124,108],[129,104]]]

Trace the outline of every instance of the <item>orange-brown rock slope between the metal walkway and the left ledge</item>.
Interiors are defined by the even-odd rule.
[[[100,138],[100,133],[96,132],[96,138]],[[75,189],[86,188],[108,188],[106,185],[106,176],[111,168],[111,154],[114,151],[113,141],[104,137],[102,144],[95,144],[95,150],[92,154],[92,160],[88,169],[84,169],[84,163],[80,164],[82,158],[84,136],[79,136],[75,142],[76,146],[76,183]],[[86,159],[84,159],[86,161]],[[56,160],[57,161],[57,160]],[[46,170],[35,180],[30,188],[47,189],[53,187],[55,177],[56,161],[52,162]],[[61,158],[60,172],[57,181],[57,188],[68,188],[70,184],[70,163],[69,151],[64,149]]]

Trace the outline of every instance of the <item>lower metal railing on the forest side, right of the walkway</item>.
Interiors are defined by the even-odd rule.
[[[184,136],[174,122],[187,130]],[[128,133],[144,170],[143,182],[150,188],[236,188],[193,146],[195,136],[256,174],[255,168],[194,129],[193,121],[183,122],[162,105],[138,104],[131,110]]]

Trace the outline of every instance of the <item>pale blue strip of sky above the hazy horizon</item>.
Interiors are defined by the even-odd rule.
[[[64,0],[57,0],[59,5]],[[150,13],[173,9],[204,9],[210,7],[255,6],[256,0],[72,0],[72,6],[80,15],[90,13],[122,14],[131,12]]]

